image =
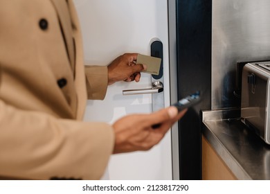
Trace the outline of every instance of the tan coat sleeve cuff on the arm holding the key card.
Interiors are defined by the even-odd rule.
[[[106,66],[84,66],[87,77],[87,96],[91,100],[103,100],[108,85],[108,69]]]

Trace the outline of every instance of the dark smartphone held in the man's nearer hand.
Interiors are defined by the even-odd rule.
[[[200,100],[199,91],[196,91],[194,94],[191,94],[189,96],[186,96],[185,98],[182,98],[177,103],[174,103],[172,106],[177,107],[178,112],[180,112],[183,109],[186,109],[188,107],[192,107],[196,103],[198,103]],[[159,128],[161,126],[161,123],[158,123],[156,125],[152,125],[153,129]]]

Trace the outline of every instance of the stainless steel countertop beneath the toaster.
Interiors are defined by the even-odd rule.
[[[240,121],[239,109],[202,112],[202,132],[237,179],[270,179],[270,146]]]

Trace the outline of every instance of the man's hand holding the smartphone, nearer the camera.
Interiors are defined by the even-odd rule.
[[[131,114],[114,123],[114,154],[149,150],[159,143],[172,124],[178,121],[187,109],[178,113],[176,107],[161,109],[152,114]],[[153,125],[161,124],[153,129]]]

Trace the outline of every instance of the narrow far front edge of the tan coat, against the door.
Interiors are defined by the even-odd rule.
[[[87,102],[87,91],[82,51],[82,36],[77,12],[75,10],[73,1],[71,0],[69,0],[69,3],[66,3],[65,0],[51,1],[57,10],[57,15],[62,25],[64,38],[66,39],[66,46],[70,56],[71,67],[75,73],[74,84],[77,92],[77,108],[75,115],[76,118],[82,119]]]

